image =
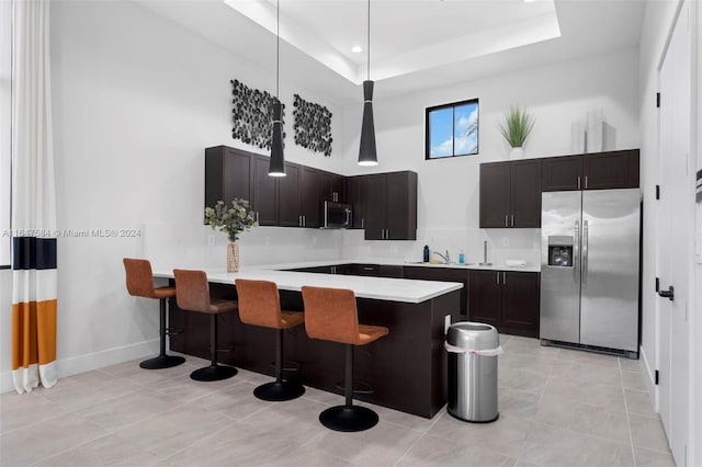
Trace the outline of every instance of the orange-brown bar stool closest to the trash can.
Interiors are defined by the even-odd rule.
[[[377,413],[366,407],[353,406],[353,348],[365,345],[389,330],[382,326],[359,324],[353,291],[303,286],[305,330],[312,339],[346,344],[346,405],[331,407],[319,414],[319,421],[330,430],[355,432],[376,425]]]

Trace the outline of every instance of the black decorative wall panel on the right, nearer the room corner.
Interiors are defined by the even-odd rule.
[[[331,156],[331,112],[295,94],[295,144],[315,152]]]

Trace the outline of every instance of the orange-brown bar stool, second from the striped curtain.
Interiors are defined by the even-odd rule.
[[[222,312],[237,309],[236,300],[212,299],[210,297],[210,283],[204,271],[173,270],[176,277],[176,300],[183,310],[199,311],[210,315],[210,353],[212,364],[204,368],[195,369],[190,374],[196,381],[218,381],[237,374],[234,366],[217,364],[217,316]]]

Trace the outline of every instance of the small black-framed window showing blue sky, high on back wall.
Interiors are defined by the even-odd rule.
[[[427,107],[426,159],[478,153],[478,100]]]

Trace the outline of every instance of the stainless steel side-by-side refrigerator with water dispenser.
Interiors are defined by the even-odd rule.
[[[547,192],[541,213],[542,343],[638,354],[638,189]]]

